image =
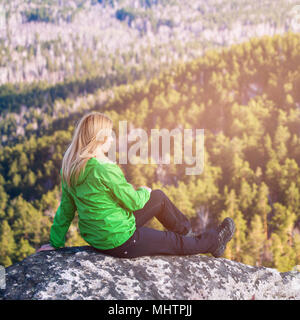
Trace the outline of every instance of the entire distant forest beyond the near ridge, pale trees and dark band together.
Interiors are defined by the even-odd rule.
[[[0,0],[0,146],[65,128],[65,115],[100,107],[112,87],[208,48],[291,30],[296,3]]]

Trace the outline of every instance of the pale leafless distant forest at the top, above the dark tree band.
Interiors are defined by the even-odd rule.
[[[296,4],[297,0],[0,0],[0,85],[55,85],[120,73],[133,79],[140,74],[149,77],[174,61],[199,57],[207,48],[284,33],[291,29]],[[6,92],[5,87],[0,92]]]

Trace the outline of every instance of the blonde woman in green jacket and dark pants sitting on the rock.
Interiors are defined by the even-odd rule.
[[[160,189],[135,190],[120,167],[105,156],[113,140],[112,120],[91,112],[79,121],[65,152],[62,197],[50,230],[50,244],[38,251],[64,247],[65,236],[78,212],[83,239],[101,253],[120,258],[146,255],[223,255],[235,225],[226,218],[216,229],[192,232],[187,217]],[[168,231],[143,226],[156,217]]]

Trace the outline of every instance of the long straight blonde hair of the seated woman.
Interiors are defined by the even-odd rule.
[[[99,145],[107,141],[112,126],[113,121],[107,115],[97,111],[90,112],[79,120],[72,142],[62,160],[63,180],[69,187],[73,173],[77,181],[87,161],[95,157]]]

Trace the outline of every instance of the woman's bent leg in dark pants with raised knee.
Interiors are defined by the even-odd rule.
[[[191,230],[189,219],[160,189],[152,190],[150,199],[145,206],[134,211],[133,214],[137,228],[143,226],[151,218],[156,217],[169,231],[185,235]]]

